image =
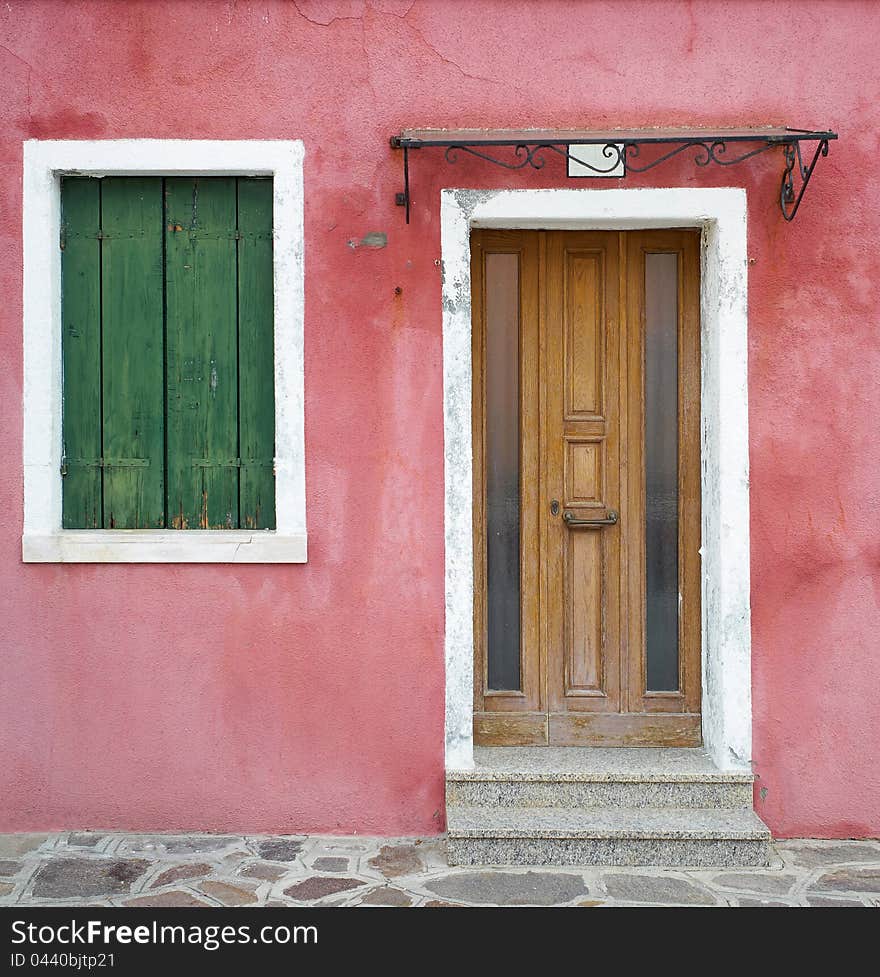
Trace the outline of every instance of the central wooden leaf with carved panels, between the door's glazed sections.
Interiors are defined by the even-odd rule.
[[[620,506],[618,234],[547,233],[542,398],[545,641],[551,711],[620,707],[620,528],[571,529]]]

